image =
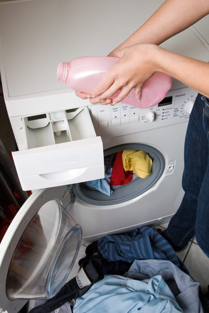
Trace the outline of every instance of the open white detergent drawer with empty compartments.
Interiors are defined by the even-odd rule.
[[[104,177],[101,137],[87,107],[21,118],[24,150],[13,152],[23,190]]]

